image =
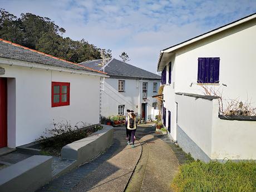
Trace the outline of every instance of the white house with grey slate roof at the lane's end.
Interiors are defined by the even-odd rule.
[[[158,91],[161,77],[115,58],[106,63],[105,69],[101,62],[93,60],[80,63],[95,70],[105,70],[110,76],[101,86],[101,115],[124,115],[126,109],[130,109],[145,120],[155,119],[158,110],[152,95]]]

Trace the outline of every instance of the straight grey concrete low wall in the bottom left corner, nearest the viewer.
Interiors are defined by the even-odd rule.
[[[1,192],[33,192],[52,179],[52,157],[34,155],[0,170]]]

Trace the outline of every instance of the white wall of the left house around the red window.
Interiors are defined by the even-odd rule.
[[[16,107],[8,102],[8,146],[14,147],[35,141],[55,122],[67,120],[99,123],[100,77],[69,72],[46,71],[37,68],[0,65],[8,78],[8,88],[16,95]],[[70,82],[70,105],[51,107],[51,82]],[[13,99],[14,98],[14,99]],[[16,109],[15,109],[16,108]],[[13,122],[15,120],[15,123]],[[14,135],[15,133],[15,135]]]

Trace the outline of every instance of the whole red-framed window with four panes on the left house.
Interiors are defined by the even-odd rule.
[[[52,82],[52,107],[70,105],[70,83]]]

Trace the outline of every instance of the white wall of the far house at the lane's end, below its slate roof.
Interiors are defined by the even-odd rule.
[[[125,81],[125,91],[118,91],[118,81]],[[142,99],[142,82],[147,82],[147,99]],[[101,115],[108,117],[118,115],[118,106],[125,105],[127,109],[134,110],[141,115],[141,104],[147,103],[147,117],[154,117],[152,110],[152,102],[156,99],[152,98],[157,92],[153,92],[153,82],[157,82],[157,90],[160,81],[154,80],[132,80],[124,78],[105,78],[104,91],[101,91]],[[101,86],[102,87],[102,86]]]

